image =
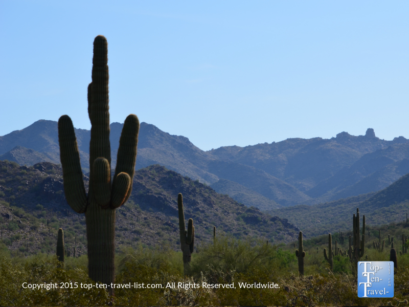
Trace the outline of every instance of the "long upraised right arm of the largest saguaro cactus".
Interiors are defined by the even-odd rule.
[[[112,190],[116,188],[118,175],[121,172],[127,173],[130,177],[130,185],[125,195],[124,203],[132,191],[133,174],[135,172],[135,164],[137,163],[139,126],[138,116],[134,114],[128,115],[119,140],[117,167],[113,177]]]

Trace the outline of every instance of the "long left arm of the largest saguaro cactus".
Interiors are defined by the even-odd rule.
[[[83,213],[86,210],[87,196],[74,126],[68,115],[63,115],[58,120],[58,142],[67,202],[75,212]]]

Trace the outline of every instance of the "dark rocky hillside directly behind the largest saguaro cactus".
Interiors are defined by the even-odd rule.
[[[89,179],[84,176],[87,187]],[[137,242],[145,245],[178,245],[177,194],[184,195],[185,216],[193,218],[195,242],[217,233],[236,238],[261,237],[289,242],[298,228],[285,219],[247,208],[211,187],[152,165],[135,172],[128,202],[117,210],[118,248]],[[57,229],[65,230],[65,242],[77,253],[86,251],[85,219],[66,203],[58,165],[44,162],[33,167],[0,162],[0,224],[2,240],[14,252],[55,252]]]

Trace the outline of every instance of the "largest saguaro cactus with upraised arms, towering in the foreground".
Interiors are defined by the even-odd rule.
[[[82,179],[74,126],[67,115],[58,120],[58,140],[67,202],[77,213],[85,213],[88,275],[109,287],[115,274],[115,212],[126,202],[132,190],[139,120],[133,114],[125,119],[117,167],[111,182],[107,62],[108,43],[104,36],[98,35],[94,40],[92,83],[88,85],[88,115],[92,124],[88,194]]]

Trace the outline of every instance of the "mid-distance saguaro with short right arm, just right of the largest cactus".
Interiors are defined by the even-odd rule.
[[[183,252],[183,268],[186,275],[189,271],[190,260],[192,258],[194,248],[195,228],[193,226],[193,219],[189,218],[188,230],[186,231],[183,196],[181,193],[177,195],[177,208],[179,211],[180,249]]]

